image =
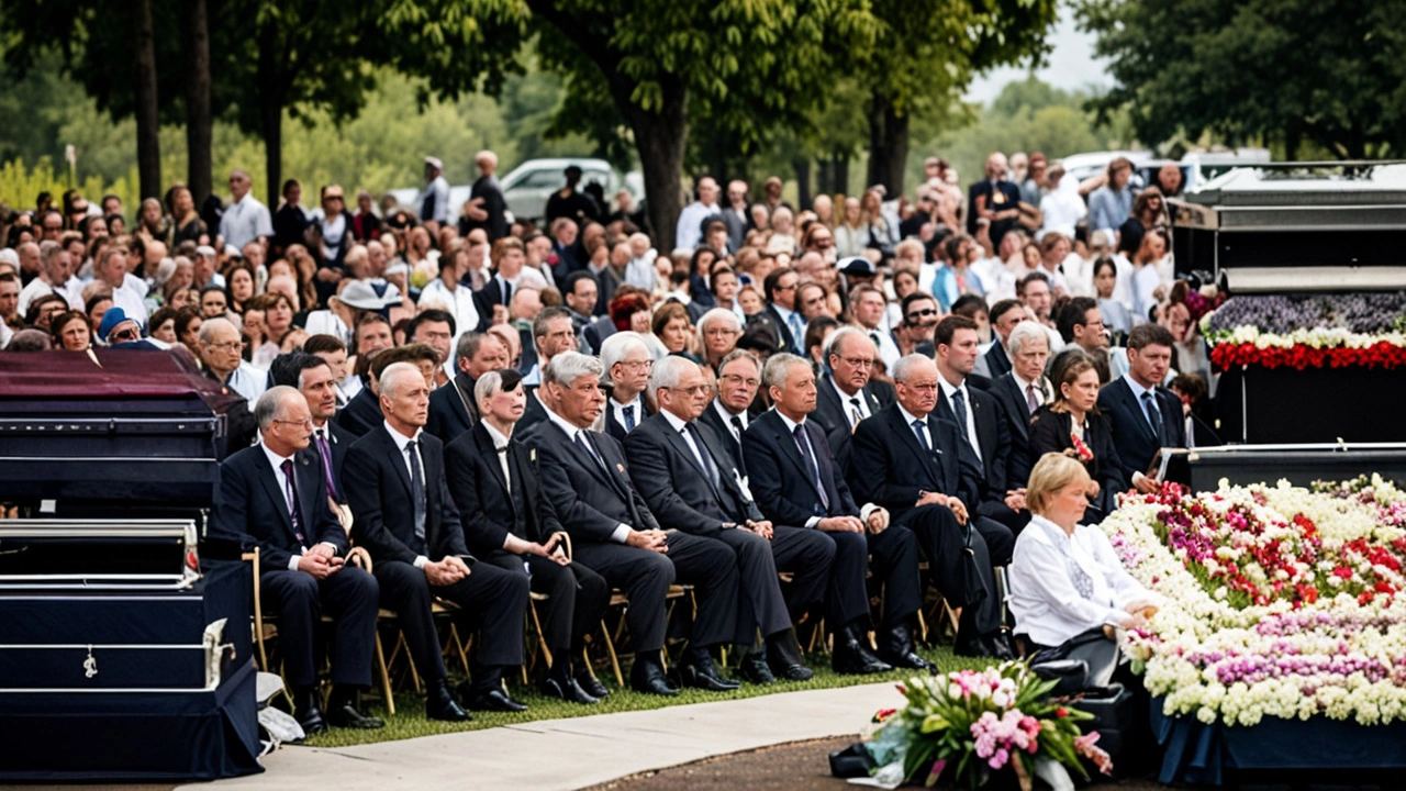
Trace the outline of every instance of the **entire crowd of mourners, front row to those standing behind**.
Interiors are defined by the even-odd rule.
[[[1160,448],[1218,443],[1171,249],[1177,166],[1144,184],[1119,158],[1081,183],[993,153],[963,191],[929,159],[911,198],[875,186],[803,207],[776,177],[754,193],[704,176],[661,239],[579,169],[517,218],[496,156],[474,165],[458,210],[426,158],[409,205],[349,207],[326,184],[311,207],[290,180],[270,210],[235,170],[228,200],[176,184],[135,213],[72,190],[0,211],[0,346],[166,350],[233,401],[214,529],[260,546],[274,608],[321,597],[339,615],[326,707],[315,619],[305,645],[299,621],[280,629],[305,728],[378,725],[356,702],[378,601],[440,719],[522,708],[501,680],[524,659],[529,587],[547,595],[541,683],[582,704],[610,694],[579,657],[612,590],[630,601],[631,685],[664,695],[808,678],[800,645],[821,621],[841,673],[931,669],[929,581],[960,611],[963,654],[1012,656],[1012,628],[1039,650],[1126,625],[1060,602],[1108,598],[1066,566],[1097,548],[1028,528],[1074,519],[1067,502],[1042,515],[1060,486],[1097,522],[1159,486]],[[1033,493],[1049,453],[1084,477]],[[665,673],[671,584],[692,587],[693,618]],[[482,633],[457,690],[433,597]]]

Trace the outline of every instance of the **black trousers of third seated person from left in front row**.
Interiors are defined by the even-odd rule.
[[[531,591],[547,594],[547,601],[538,602],[537,614],[553,659],[579,652],[585,636],[600,624],[610,604],[610,586],[605,577],[581,563],[558,566],[540,555],[513,555],[502,549],[479,560],[515,573],[523,573],[526,560]]]

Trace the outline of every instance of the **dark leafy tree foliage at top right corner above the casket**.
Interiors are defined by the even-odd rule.
[[[1406,8],[1344,0],[1080,0],[1080,27],[1126,108],[1159,144],[1212,132],[1227,142],[1302,142],[1339,158],[1406,151]]]

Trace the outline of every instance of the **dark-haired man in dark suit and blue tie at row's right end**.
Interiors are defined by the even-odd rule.
[[[1157,324],[1139,324],[1128,334],[1128,373],[1104,386],[1098,408],[1114,425],[1114,446],[1123,474],[1137,491],[1156,491],[1147,469],[1161,448],[1185,448],[1187,428],[1181,400],[1161,386],[1171,366],[1171,332]]]

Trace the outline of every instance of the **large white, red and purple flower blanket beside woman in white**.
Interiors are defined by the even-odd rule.
[[[1102,529],[1167,600],[1125,650],[1168,716],[1406,719],[1406,494],[1389,481],[1168,484]]]

